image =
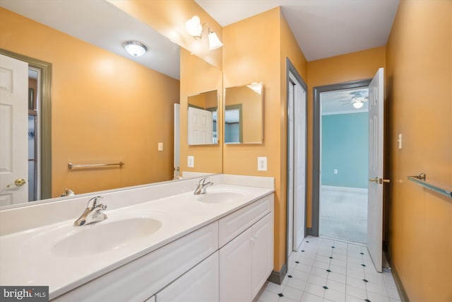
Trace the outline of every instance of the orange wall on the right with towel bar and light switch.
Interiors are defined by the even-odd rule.
[[[410,301],[452,301],[452,1],[400,1],[386,47],[391,165],[389,250]],[[403,149],[396,140],[403,134]]]

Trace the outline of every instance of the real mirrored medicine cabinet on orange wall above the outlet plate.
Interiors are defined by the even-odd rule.
[[[263,141],[263,84],[225,88],[225,144]]]

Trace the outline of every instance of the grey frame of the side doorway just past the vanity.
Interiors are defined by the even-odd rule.
[[[307,124],[307,117],[308,117],[307,93],[308,93],[308,87],[307,87],[307,84],[304,83],[302,77],[299,75],[297,69],[295,69],[295,66],[292,64],[292,62],[290,62],[290,59],[286,57],[286,114],[288,114],[288,110],[287,110],[288,109],[288,103],[287,103],[287,100],[288,100],[289,95],[290,95],[290,92],[289,92],[290,91],[290,74],[292,74],[292,76],[295,77],[295,79],[302,86],[302,88],[304,89],[304,92],[305,92],[304,93],[304,95],[305,95],[304,110],[306,112],[306,120],[304,121],[304,123],[305,123],[304,139],[306,141],[305,141],[305,144],[304,144],[304,147],[305,147],[305,150],[304,150],[304,153],[305,153],[305,159],[304,159],[305,160],[305,163],[304,163],[304,168],[305,168],[305,173],[304,173],[304,184],[305,184],[305,186],[304,186],[304,233],[307,234],[306,221],[307,221],[307,163],[308,163],[307,162],[307,152],[308,152],[308,148],[307,148],[307,146],[308,146],[308,144],[307,144],[307,135],[308,135],[308,132],[307,132],[307,129],[308,129],[308,124]],[[287,119],[286,119],[286,135],[287,136],[289,135],[289,127],[290,127],[289,119],[287,117]],[[288,165],[289,165],[289,139],[288,139],[288,137],[286,138],[286,152],[287,152],[287,154],[286,154],[286,164],[285,164],[285,166],[286,166],[286,173],[287,173],[286,180],[288,181],[289,180],[289,169],[287,168]],[[288,190],[287,181],[286,181],[286,201],[288,202],[288,200],[289,200],[288,199],[289,190]],[[288,260],[289,260],[288,259],[289,248],[292,248],[292,247],[289,247],[289,227],[290,226],[289,226],[289,219],[288,219],[288,217],[289,217],[289,207],[288,207],[288,205],[286,207],[286,211],[287,211],[286,212],[287,219],[286,219],[285,263],[287,264]],[[292,233],[292,236],[293,236],[293,233]]]

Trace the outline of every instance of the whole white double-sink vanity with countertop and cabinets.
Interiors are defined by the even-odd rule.
[[[273,270],[273,178],[208,181],[1,210],[0,285],[49,286],[52,301],[252,301]]]

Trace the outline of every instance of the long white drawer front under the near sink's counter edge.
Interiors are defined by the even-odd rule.
[[[218,250],[218,223],[210,223],[98,277],[54,301],[145,301]]]

